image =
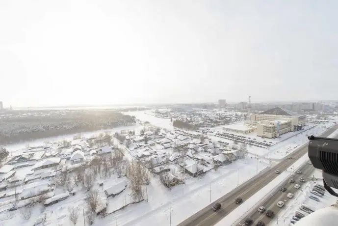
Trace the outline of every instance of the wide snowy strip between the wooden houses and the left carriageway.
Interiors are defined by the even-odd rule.
[[[258,166],[258,168],[257,168]],[[268,166],[255,158],[237,161],[234,164],[211,170],[202,178],[191,178],[183,185],[177,185],[168,191],[156,179],[147,186],[148,202],[130,206],[106,217],[98,225],[147,226],[169,225],[171,210],[172,225],[177,225],[211,202],[226,195]],[[189,206],[189,208],[186,208]],[[112,221],[111,219],[114,219]]]

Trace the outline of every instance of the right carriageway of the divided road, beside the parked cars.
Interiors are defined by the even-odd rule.
[[[309,181],[309,176],[312,174],[314,168],[312,165],[305,164],[303,165],[300,170],[302,171],[301,174],[294,173],[293,178],[295,179],[295,183],[290,183],[286,181],[281,187],[285,187],[286,191],[282,192],[278,190],[276,193],[274,193],[270,198],[267,200],[262,201],[262,203],[259,206],[264,206],[266,210],[271,209],[275,213],[275,217],[281,211],[282,209],[286,208],[286,205],[290,201],[290,198],[287,198],[286,195],[288,193],[293,194],[293,198],[297,198],[297,196],[302,192],[302,187],[304,186],[304,183],[299,182],[300,178],[304,178],[305,181]],[[295,184],[301,185],[299,189],[294,188]],[[293,199],[292,198],[292,199]],[[279,208],[276,204],[278,201],[283,201],[285,203],[285,206],[283,208]],[[253,212],[248,214],[248,217],[250,217],[252,220],[254,220],[253,226],[257,224],[258,221],[262,221],[265,223],[265,225],[268,225],[270,221],[272,220],[271,218],[268,218],[264,213],[258,212],[257,209],[253,210]],[[240,223],[240,225],[245,225],[244,221],[246,218],[243,219],[243,221]]]

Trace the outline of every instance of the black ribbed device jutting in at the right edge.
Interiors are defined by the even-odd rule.
[[[338,194],[338,139],[309,136],[308,154],[312,165],[321,169],[324,188],[333,196]]]

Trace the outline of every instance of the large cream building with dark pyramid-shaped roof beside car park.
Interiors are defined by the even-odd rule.
[[[252,114],[251,121],[247,124],[257,128],[257,136],[275,138],[290,131],[301,130],[306,125],[306,115],[276,107],[259,114]]]

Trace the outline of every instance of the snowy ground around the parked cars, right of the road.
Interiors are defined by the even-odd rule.
[[[322,178],[321,170],[314,170],[314,176],[316,178]],[[288,226],[290,224],[290,219],[294,216],[296,211],[300,211],[299,207],[301,204],[306,204],[309,207],[313,207],[315,210],[330,206],[336,203],[337,198],[331,196],[328,192],[325,192],[322,198],[319,198],[320,201],[315,201],[309,198],[310,191],[312,190],[313,186],[318,183],[323,185],[322,180],[317,181],[310,181],[303,186],[303,192],[298,192],[295,198],[291,199],[291,202],[288,202],[285,208],[274,218],[274,220],[269,224],[269,226]],[[302,212],[302,211],[301,211]],[[307,215],[306,213],[304,213]],[[297,224],[296,224],[297,225]]]

